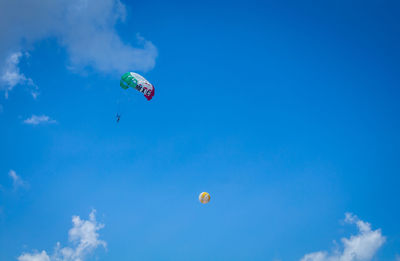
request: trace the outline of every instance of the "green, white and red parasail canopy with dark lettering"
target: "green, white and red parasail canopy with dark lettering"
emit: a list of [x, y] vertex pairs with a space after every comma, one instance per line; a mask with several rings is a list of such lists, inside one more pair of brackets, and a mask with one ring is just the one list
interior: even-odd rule
[[124, 73], [124, 75], [121, 77], [119, 85], [125, 90], [129, 87], [138, 90], [144, 94], [144, 97], [146, 97], [148, 101], [150, 101], [154, 96], [153, 84], [149, 83], [143, 76], [137, 73]]

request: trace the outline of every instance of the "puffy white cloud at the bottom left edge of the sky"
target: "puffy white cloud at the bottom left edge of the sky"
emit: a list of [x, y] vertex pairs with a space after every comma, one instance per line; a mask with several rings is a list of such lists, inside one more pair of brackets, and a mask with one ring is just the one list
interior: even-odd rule
[[98, 230], [104, 227], [99, 224], [93, 210], [89, 220], [82, 220], [79, 216], [72, 217], [72, 228], [69, 230], [69, 242], [72, 247], [61, 247], [58, 242], [52, 255], [46, 251], [40, 253], [24, 253], [18, 257], [18, 261], [83, 261], [89, 257], [99, 246], [106, 247], [105, 241], [99, 239]]

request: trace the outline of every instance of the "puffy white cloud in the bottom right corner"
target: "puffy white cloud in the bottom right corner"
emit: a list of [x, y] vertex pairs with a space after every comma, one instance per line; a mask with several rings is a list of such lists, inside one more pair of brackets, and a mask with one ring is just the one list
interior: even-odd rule
[[385, 237], [380, 229], [372, 230], [371, 224], [346, 213], [345, 222], [356, 224], [358, 234], [350, 238], [342, 238], [342, 248], [336, 248], [332, 253], [319, 251], [306, 254], [301, 261], [370, 261], [379, 248], [385, 243]]

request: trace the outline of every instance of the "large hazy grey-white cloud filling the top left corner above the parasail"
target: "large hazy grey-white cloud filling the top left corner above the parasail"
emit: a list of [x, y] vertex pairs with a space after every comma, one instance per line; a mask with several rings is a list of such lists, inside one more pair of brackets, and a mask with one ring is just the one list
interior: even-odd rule
[[[8, 92], [16, 84], [29, 83], [21, 81], [21, 52], [48, 38], [57, 39], [67, 50], [68, 67], [77, 71], [87, 66], [107, 73], [152, 69], [157, 48], [140, 36], [135, 35], [133, 46], [118, 35], [115, 26], [125, 17], [120, 0], [0, 1], [2, 88]], [[14, 70], [8, 70], [7, 57], [11, 56]]]

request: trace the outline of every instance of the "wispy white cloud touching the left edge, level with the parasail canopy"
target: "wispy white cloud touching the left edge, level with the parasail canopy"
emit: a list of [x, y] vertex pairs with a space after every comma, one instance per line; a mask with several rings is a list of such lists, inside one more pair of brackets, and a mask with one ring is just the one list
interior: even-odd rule
[[[27, 54], [25, 54], [27, 55]], [[18, 67], [21, 58], [24, 56], [21, 52], [11, 53], [5, 61], [2, 75], [0, 78], [0, 87], [4, 90], [5, 97], [8, 98], [8, 92], [16, 85], [28, 85], [31, 87], [31, 94], [34, 99], [38, 96], [38, 87], [31, 78], [26, 77], [20, 72]]]

